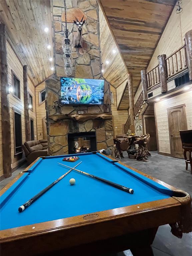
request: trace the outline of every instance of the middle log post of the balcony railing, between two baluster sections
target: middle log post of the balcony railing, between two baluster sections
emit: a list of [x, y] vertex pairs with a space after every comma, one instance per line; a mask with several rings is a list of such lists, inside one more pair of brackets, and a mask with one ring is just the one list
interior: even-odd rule
[[166, 54], [162, 54], [158, 56], [159, 61], [159, 76], [161, 82], [161, 92], [167, 92], [167, 61]]

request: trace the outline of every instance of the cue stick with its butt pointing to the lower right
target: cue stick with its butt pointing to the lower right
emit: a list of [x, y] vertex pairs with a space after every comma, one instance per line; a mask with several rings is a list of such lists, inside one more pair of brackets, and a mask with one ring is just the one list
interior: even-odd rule
[[[61, 163], [58, 163], [58, 164], [61, 164]], [[65, 166], [65, 167], [68, 167], [68, 168], [71, 168], [71, 169], [73, 169], [73, 170], [75, 170], [75, 171], [77, 171], [77, 172], [83, 173], [83, 174], [85, 174], [85, 175], [87, 175], [87, 176], [89, 176], [89, 177], [91, 177], [91, 178], [93, 178], [93, 179], [99, 180], [99, 181], [101, 181], [101, 182], [103, 182], [103, 183], [106, 183], [106, 184], [111, 185], [111, 186], [113, 186], [113, 187], [115, 187], [115, 188], [121, 189], [121, 190], [123, 190], [123, 191], [125, 191], [125, 192], [128, 192], [128, 193], [130, 193], [130, 194], [133, 194], [133, 193], [134, 193], [134, 190], [133, 190], [132, 188], [124, 187], [124, 186], [119, 185], [119, 184], [117, 184], [117, 183], [114, 183], [114, 182], [112, 182], [112, 181], [105, 180], [105, 179], [102, 179], [102, 178], [97, 177], [97, 176], [95, 176], [95, 175], [89, 174], [89, 173], [87, 173], [87, 172], [83, 172], [83, 171], [77, 170], [77, 169], [75, 169], [75, 168], [69, 167], [69, 166], [67, 166], [67, 165], [65, 165], [65, 164], [61, 164], [61, 165]]]

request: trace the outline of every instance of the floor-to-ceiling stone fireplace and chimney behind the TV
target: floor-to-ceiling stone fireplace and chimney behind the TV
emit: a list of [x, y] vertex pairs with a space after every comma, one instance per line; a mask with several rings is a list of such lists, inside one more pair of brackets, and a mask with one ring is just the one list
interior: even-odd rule
[[[53, 1], [55, 74], [45, 82], [49, 155], [69, 154], [71, 152], [69, 151], [70, 134], [86, 132], [95, 133], [96, 150], [108, 149], [113, 146], [111, 110], [109, 113], [104, 113], [104, 105], [62, 105], [61, 113], [57, 115], [53, 109], [53, 101], [61, 99], [60, 77], [66, 76], [62, 59], [62, 39], [65, 28], [63, 6], [63, 0]], [[86, 20], [83, 26], [83, 48], [73, 50], [74, 63], [71, 77], [103, 79], [99, 46], [98, 2], [96, 0], [68, 0], [66, 6], [67, 26], [71, 40], [76, 33], [76, 25], [73, 24], [74, 18], [81, 19], [84, 15]], [[109, 106], [111, 104], [110, 84], [107, 81], [104, 83], [104, 103]]]

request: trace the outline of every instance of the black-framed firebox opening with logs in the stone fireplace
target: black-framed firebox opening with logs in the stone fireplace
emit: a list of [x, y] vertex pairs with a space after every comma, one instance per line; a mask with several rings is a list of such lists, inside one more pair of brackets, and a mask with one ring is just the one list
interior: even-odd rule
[[69, 154], [97, 150], [95, 132], [77, 132], [68, 134]]

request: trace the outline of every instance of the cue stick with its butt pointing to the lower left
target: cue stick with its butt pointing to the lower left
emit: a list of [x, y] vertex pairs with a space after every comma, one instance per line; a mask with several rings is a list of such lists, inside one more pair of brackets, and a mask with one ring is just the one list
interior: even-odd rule
[[[82, 161], [80, 163], [78, 163], [75, 167], [77, 167], [79, 164], [81, 164]], [[41, 190], [38, 194], [36, 194], [34, 197], [32, 197], [29, 201], [27, 201], [25, 204], [21, 205], [18, 208], [19, 212], [24, 211], [27, 207], [29, 207], [33, 202], [35, 202], [40, 196], [42, 196], [45, 192], [47, 192], [51, 187], [53, 187], [57, 182], [59, 182], [61, 179], [63, 179], [68, 173], [70, 173], [73, 170], [73, 168], [70, 168], [70, 170], [68, 172], [66, 172], [65, 174], [63, 174], [61, 177], [59, 177], [57, 180], [55, 180], [53, 183], [51, 183], [49, 186], [47, 186], [46, 188], [44, 188], [43, 190]]]

